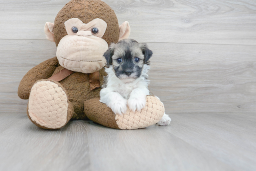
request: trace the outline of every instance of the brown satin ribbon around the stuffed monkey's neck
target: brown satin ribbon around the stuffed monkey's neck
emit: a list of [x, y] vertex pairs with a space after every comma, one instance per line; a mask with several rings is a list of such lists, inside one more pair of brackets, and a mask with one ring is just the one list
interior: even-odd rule
[[[54, 80], [54, 81], [61, 81], [63, 79], [66, 79], [69, 75], [71, 75], [72, 73], [74, 73], [74, 71], [70, 71], [66, 68], [64, 68], [63, 70], [61, 70], [60, 72], [54, 74], [53, 76], [51, 76], [48, 79]], [[101, 86], [100, 83], [100, 72], [94, 72], [94, 73], [89, 73], [89, 82], [90, 82], [90, 90], [93, 91], [95, 88], [98, 88]]]

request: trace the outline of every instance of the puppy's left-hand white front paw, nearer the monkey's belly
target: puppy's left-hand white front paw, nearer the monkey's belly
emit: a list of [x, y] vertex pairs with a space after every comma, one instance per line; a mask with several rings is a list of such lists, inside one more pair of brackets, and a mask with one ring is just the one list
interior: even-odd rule
[[115, 114], [122, 115], [127, 111], [127, 99], [124, 99], [118, 92], [104, 88], [100, 92], [100, 102], [105, 103]]

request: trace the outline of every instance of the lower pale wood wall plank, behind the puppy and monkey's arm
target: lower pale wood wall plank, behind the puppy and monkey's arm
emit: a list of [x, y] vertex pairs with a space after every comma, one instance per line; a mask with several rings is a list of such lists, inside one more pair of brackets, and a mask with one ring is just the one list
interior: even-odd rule
[[[14, 43], [15, 42], [15, 43]], [[40, 62], [55, 56], [47, 40], [0, 40], [0, 104], [23, 106], [20, 80]], [[255, 112], [255, 46], [148, 43], [151, 91], [167, 113]], [[29, 48], [26, 48], [29, 47]]]

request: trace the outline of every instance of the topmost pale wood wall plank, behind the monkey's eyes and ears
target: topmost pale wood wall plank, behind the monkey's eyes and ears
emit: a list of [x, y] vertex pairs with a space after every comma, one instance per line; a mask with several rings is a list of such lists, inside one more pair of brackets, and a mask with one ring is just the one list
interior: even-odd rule
[[[0, 1], [0, 39], [46, 39], [47, 21], [69, 0]], [[256, 45], [253, 0], [104, 0], [141, 42]]]

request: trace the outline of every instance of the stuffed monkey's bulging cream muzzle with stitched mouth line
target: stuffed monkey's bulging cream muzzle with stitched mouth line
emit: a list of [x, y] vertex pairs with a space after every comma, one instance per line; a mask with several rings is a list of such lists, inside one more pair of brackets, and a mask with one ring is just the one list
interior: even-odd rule
[[107, 50], [108, 43], [104, 39], [67, 35], [61, 39], [56, 56], [60, 65], [68, 70], [93, 73], [105, 66], [107, 61], [103, 54]]

